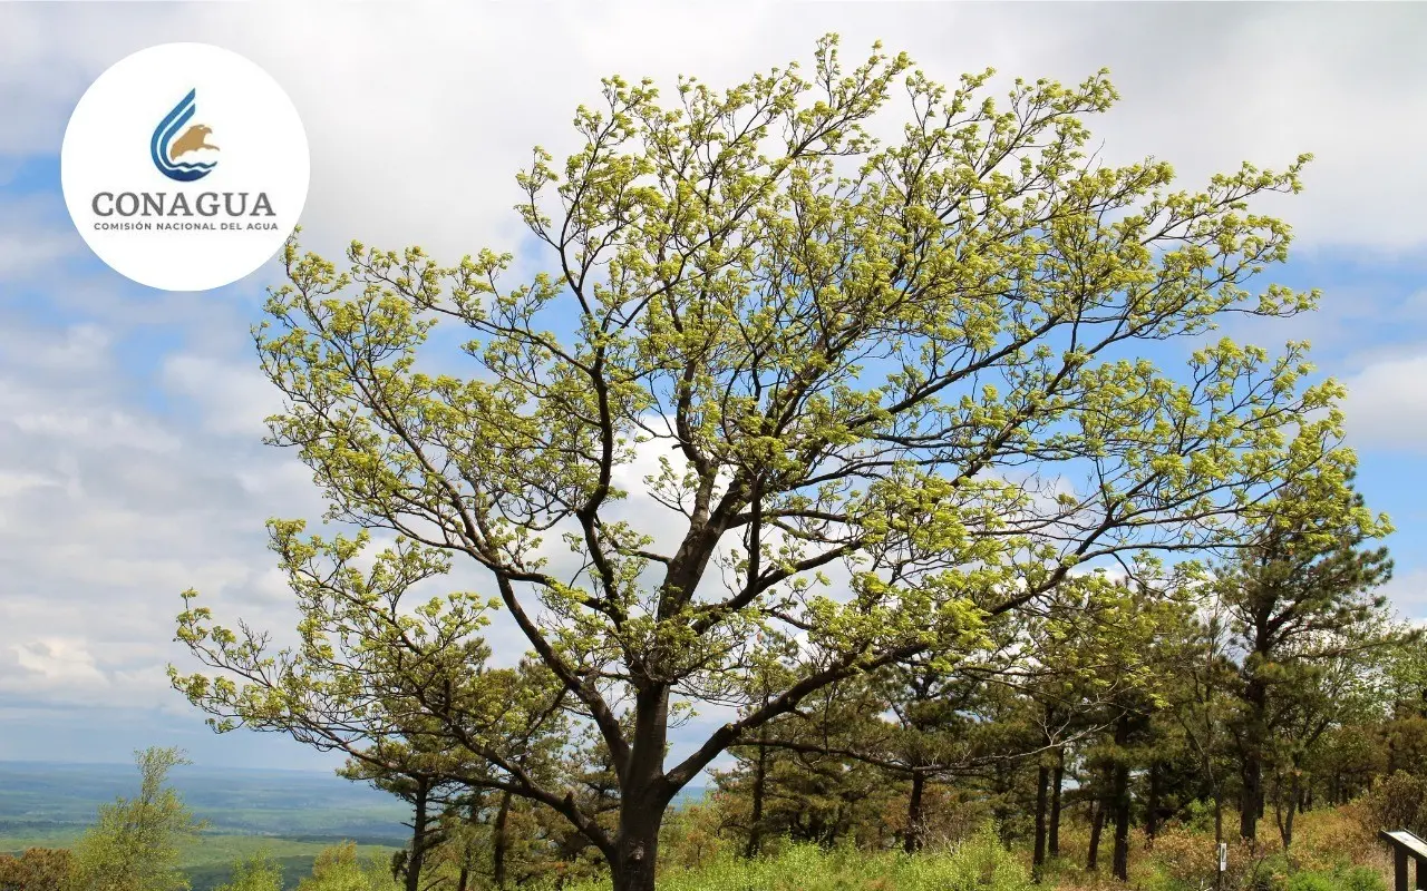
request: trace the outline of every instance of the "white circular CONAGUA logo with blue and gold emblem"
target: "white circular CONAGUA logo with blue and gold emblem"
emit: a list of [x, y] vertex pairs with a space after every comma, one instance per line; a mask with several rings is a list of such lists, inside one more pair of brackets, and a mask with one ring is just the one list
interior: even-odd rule
[[116, 63], [64, 131], [60, 182], [86, 244], [150, 288], [207, 291], [254, 272], [307, 201], [307, 133], [263, 68], [201, 43]]

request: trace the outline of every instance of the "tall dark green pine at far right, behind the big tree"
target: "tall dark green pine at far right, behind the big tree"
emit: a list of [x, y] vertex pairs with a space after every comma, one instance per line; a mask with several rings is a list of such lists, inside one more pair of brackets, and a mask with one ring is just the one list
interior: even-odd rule
[[1304, 753], [1347, 713], [1344, 684], [1364, 654], [1397, 642], [1380, 586], [1391, 577], [1391, 526], [1351, 488], [1351, 472], [1324, 469], [1263, 505], [1251, 546], [1224, 567], [1219, 596], [1232, 620], [1239, 677], [1229, 727], [1240, 760], [1240, 835], [1253, 841], [1264, 813], [1264, 773], [1291, 776], [1283, 843], [1303, 791]]

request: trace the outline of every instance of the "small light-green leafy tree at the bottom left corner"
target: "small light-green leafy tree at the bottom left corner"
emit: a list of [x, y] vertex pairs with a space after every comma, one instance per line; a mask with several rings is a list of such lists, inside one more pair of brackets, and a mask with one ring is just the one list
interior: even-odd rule
[[177, 748], [136, 753], [140, 791], [98, 808], [98, 820], [73, 847], [74, 891], [186, 891], [178, 868], [184, 848], [198, 838], [195, 820], [166, 786], [168, 771], [187, 764]]

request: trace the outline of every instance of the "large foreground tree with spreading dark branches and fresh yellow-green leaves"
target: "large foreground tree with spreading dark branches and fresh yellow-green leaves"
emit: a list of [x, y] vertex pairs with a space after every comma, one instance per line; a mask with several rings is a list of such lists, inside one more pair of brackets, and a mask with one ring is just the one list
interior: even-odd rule
[[[354, 244], [341, 272], [283, 254], [257, 332], [285, 396], [271, 442], [331, 519], [485, 572], [598, 733], [618, 817], [508, 751], [487, 753], [494, 781], [568, 818], [622, 891], [654, 887], [675, 794], [812, 693], [979, 646], [1076, 565], [1226, 543], [1246, 505], [1334, 460], [1339, 388], [1303, 386], [1301, 346], [1204, 342], [1173, 375], [1137, 352], [1313, 305], [1243, 288], [1289, 244], [1247, 202], [1297, 191], [1306, 158], [1173, 191], [1164, 163], [1086, 154], [1103, 73], [1016, 81], [1005, 105], [989, 77], [845, 67], [826, 38], [806, 74], [681, 80], [668, 104], [609, 78], [582, 147], [518, 177], [531, 278], [491, 251]], [[909, 118], [878, 141], [899, 81]], [[464, 331], [464, 371], [437, 325]], [[781, 690], [745, 683], [789, 646]], [[240, 716], [304, 706], [186, 689]], [[671, 761], [679, 703], [738, 717]]]

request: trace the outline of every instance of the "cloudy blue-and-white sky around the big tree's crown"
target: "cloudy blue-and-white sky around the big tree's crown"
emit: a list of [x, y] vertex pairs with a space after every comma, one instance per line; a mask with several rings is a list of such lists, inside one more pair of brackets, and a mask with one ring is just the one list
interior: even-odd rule
[[[705, 11], [706, 10], [706, 11]], [[313, 151], [308, 247], [514, 249], [514, 174], [568, 147], [606, 74], [731, 84], [809, 60], [838, 31], [953, 81], [993, 66], [1123, 98], [1093, 123], [1112, 161], [1154, 155], [1186, 185], [1249, 160], [1317, 161], [1276, 202], [1299, 235], [1274, 278], [1324, 292], [1311, 318], [1232, 329], [1307, 338], [1350, 388], [1368, 503], [1398, 532], [1393, 596], [1427, 617], [1427, 7], [1418, 4], [0, 4], [0, 758], [116, 761], [180, 744], [211, 766], [320, 767], [294, 743], [215, 737], [164, 664], [178, 592], [291, 627], [268, 516], [317, 519], [305, 470], [260, 443], [275, 408], [248, 326], [267, 267], [205, 294], [130, 284], [64, 211], [59, 148], [94, 77], [170, 41], [267, 68]], [[497, 640], [497, 646], [501, 642]]]

